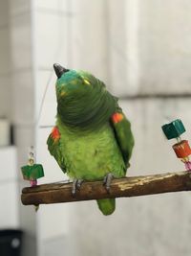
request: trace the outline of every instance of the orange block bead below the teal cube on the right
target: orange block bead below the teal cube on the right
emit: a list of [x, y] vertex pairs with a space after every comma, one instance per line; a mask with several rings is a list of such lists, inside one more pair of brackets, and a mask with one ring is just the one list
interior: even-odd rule
[[177, 154], [178, 158], [185, 158], [191, 154], [191, 149], [187, 140], [182, 140], [173, 145], [173, 150]]

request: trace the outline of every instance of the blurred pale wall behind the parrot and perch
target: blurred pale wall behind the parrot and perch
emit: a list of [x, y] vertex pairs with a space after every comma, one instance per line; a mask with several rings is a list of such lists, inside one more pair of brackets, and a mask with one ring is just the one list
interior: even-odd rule
[[23, 255], [190, 255], [190, 193], [120, 198], [111, 217], [95, 201], [40, 206], [35, 214], [18, 195], [28, 185], [19, 167], [31, 145], [45, 168], [41, 183], [66, 178], [46, 146], [54, 62], [92, 72], [119, 97], [136, 138], [128, 175], [183, 170], [160, 126], [180, 118], [190, 138], [190, 12], [188, 0], [0, 1], [0, 115], [13, 122], [16, 144], [0, 150], [0, 228], [25, 231]]

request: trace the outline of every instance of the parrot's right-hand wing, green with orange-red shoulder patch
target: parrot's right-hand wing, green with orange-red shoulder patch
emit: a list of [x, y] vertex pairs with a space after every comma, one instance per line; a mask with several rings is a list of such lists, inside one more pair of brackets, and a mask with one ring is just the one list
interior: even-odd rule
[[129, 160], [134, 148], [134, 136], [131, 130], [131, 123], [128, 121], [121, 108], [111, 117], [111, 123], [115, 130], [117, 144], [122, 153], [126, 167], [129, 167]]

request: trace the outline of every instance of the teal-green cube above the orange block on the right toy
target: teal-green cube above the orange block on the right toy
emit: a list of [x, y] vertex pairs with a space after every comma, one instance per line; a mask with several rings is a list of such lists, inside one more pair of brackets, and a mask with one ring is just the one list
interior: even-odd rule
[[180, 135], [185, 131], [180, 119], [177, 119], [169, 124], [165, 124], [161, 128], [168, 140], [180, 137]]

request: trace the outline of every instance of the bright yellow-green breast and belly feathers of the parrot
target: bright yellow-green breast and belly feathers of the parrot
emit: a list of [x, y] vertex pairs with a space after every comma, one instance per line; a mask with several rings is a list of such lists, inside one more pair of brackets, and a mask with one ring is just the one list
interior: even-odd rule
[[59, 149], [62, 149], [64, 166], [70, 177], [95, 180], [102, 179], [108, 173], [116, 177], [124, 175], [125, 164], [109, 122], [89, 132], [80, 129], [71, 131], [59, 117], [56, 125], [61, 133]]

